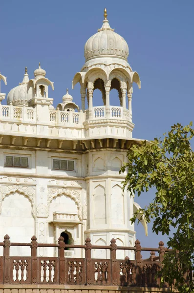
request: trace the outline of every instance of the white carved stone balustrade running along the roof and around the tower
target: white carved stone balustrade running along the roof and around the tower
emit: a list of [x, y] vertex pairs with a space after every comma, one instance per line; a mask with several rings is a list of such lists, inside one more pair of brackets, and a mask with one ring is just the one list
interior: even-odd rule
[[109, 112], [106, 106], [93, 107], [89, 115], [88, 110], [60, 111], [49, 109], [48, 105], [0, 105], [0, 135], [24, 133], [34, 137], [43, 134], [47, 138], [83, 139], [106, 134], [128, 139], [133, 127], [129, 110], [120, 106], [110, 106]]

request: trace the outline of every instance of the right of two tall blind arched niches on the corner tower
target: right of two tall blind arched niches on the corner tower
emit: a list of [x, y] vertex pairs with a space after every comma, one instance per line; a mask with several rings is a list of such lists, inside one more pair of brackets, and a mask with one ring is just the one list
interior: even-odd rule
[[124, 224], [124, 195], [118, 184], [111, 190], [111, 222], [117, 225]]

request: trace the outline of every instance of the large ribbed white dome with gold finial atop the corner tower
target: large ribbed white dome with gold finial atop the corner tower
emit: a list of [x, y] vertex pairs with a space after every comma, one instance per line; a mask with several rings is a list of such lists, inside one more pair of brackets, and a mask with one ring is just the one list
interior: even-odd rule
[[84, 48], [84, 56], [87, 60], [97, 57], [117, 57], [127, 60], [129, 47], [127, 42], [110, 28], [107, 17], [98, 32], [91, 36]]

